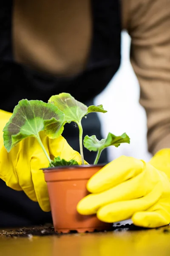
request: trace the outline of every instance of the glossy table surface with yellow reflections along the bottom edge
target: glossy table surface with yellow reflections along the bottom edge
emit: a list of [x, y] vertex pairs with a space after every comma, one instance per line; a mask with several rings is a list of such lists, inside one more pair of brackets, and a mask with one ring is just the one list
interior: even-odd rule
[[0, 256], [170, 256], [170, 226], [53, 236], [0, 236]]

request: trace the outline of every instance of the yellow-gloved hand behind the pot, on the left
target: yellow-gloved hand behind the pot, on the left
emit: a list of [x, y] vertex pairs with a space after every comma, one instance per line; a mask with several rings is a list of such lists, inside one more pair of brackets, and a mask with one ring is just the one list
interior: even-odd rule
[[[34, 137], [22, 140], [9, 153], [6, 151], [2, 130], [10, 117], [11, 113], [0, 110], [0, 178], [7, 186], [23, 190], [32, 201], [38, 201], [43, 211], [50, 211], [47, 184], [40, 170], [48, 167], [49, 162]], [[61, 159], [75, 159], [81, 163], [80, 154], [62, 136], [52, 140], [42, 131], [40, 138], [51, 159], [60, 156]]]

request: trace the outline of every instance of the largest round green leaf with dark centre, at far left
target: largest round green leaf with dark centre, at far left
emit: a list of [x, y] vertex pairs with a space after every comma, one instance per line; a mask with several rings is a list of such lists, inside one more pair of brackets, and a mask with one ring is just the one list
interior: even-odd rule
[[51, 103], [22, 99], [3, 129], [4, 146], [9, 152], [26, 137], [38, 137], [45, 131], [48, 137], [57, 138], [63, 131], [64, 113]]

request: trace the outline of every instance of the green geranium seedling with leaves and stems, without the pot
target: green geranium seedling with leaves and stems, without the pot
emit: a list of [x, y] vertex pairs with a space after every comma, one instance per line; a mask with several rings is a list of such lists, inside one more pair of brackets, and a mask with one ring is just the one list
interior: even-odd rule
[[121, 136], [109, 133], [106, 139], [100, 141], [95, 135], [91, 137], [86, 135], [83, 141], [81, 121], [83, 117], [92, 112], [106, 113], [107, 111], [103, 109], [102, 105], [87, 107], [82, 102], [74, 99], [70, 93], [60, 93], [51, 96], [48, 103], [40, 100], [22, 99], [15, 106], [11, 118], [3, 129], [4, 146], [9, 152], [21, 140], [32, 136], [40, 143], [42, 150], [49, 160], [49, 167], [77, 165], [78, 163], [74, 159], [66, 161], [65, 159], [60, 159], [60, 157], [55, 157], [54, 160], [51, 160], [39, 135], [40, 131], [44, 131], [49, 138], [56, 139], [62, 134], [65, 123], [75, 122], [79, 128], [79, 147], [82, 165], [87, 163], [83, 156], [83, 143], [89, 151], [97, 152], [94, 161], [94, 164], [97, 164], [105, 148], [111, 145], [118, 147], [121, 143], [130, 143], [130, 138], [126, 133]]

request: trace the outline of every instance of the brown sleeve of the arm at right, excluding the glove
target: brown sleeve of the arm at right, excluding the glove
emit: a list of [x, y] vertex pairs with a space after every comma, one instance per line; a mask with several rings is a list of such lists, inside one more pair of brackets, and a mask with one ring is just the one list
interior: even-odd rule
[[122, 0], [130, 60], [147, 113], [148, 149], [170, 148], [170, 0]]

